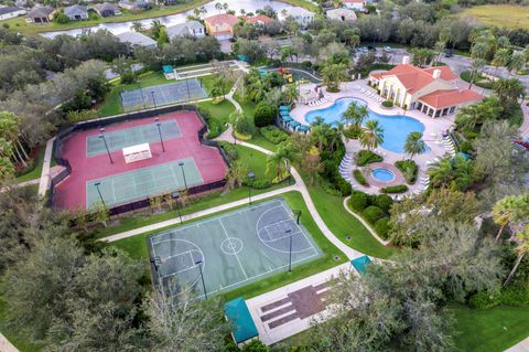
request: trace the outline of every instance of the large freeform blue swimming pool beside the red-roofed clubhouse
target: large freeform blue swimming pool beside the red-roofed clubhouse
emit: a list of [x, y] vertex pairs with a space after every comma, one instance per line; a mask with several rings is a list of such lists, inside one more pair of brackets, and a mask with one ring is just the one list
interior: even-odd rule
[[[327, 124], [339, 122], [342, 114], [353, 102], [356, 102], [356, 104], [360, 106], [366, 105], [366, 103], [356, 98], [339, 98], [330, 107], [306, 113], [305, 121], [312, 124], [316, 117], [320, 116]], [[404, 152], [406, 138], [410, 132], [424, 131], [424, 126], [420, 121], [408, 116], [387, 116], [369, 110], [368, 119], [378, 120], [380, 127], [384, 128], [384, 143], [381, 147], [398, 153]], [[429, 150], [430, 148], [427, 147], [427, 152], [429, 152]]]

